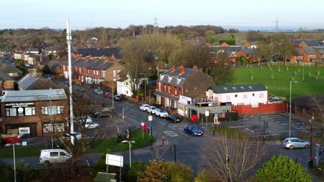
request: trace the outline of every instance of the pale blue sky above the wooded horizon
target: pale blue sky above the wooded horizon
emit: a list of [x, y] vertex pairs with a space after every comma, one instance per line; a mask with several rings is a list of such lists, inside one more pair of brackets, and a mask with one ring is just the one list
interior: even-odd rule
[[320, 0], [2, 0], [0, 29], [127, 28], [213, 25], [255, 30], [324, 28], [324, 1]]

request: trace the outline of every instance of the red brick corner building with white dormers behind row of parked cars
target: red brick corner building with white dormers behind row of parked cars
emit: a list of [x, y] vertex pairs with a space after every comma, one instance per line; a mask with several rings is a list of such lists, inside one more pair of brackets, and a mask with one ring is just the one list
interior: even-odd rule
[[205, 95], [206, 89], [215, 85], [213, 79], [197, 69], [171, 67], [171, 70], [164, 72], [156, 81], [157, 104], [178, 108], [179, 96], [199, 98]]

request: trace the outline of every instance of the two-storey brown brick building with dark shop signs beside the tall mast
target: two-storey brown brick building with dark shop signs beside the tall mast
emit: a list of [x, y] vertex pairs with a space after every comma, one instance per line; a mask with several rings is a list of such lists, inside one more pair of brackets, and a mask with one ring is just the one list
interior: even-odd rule
[[6, 91], [1, 99], [2, 133], [51, 136], [66, 132], [68, 108], [63, 89]]

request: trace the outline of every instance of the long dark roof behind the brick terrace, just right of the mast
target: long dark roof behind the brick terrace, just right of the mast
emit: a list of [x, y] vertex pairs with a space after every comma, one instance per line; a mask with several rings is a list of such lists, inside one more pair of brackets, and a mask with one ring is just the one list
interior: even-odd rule
[[121, 59], [122, 55], [120, 53], [120, 50], [118, 48], [108, 48], [108, 49], [78, 49], [78, 54], [82, 54], [82, 57], [111, 57], [114, 55], [116, 59]]

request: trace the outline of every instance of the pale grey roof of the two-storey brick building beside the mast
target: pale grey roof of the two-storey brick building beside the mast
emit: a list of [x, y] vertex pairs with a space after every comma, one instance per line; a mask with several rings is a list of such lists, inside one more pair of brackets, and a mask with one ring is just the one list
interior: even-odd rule
[[6, 91], [1, 103], [67, 99], [64, 89]]

